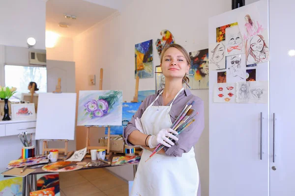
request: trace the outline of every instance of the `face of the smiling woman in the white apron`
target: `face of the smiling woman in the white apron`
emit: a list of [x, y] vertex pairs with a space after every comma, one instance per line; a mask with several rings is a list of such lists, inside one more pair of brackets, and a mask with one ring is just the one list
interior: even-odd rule
[[165, 77], [182, 78], [189, 67], [184, 55], [178, 49], [169, 48], [164, 53], [161, 68]]

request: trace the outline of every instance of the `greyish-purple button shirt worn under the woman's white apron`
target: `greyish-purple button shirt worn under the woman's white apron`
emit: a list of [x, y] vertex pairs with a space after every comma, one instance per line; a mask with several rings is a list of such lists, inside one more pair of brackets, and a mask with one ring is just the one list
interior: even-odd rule
[[[156, 95], [150, 95], [141, 103], [139, 109], [133, 115], [131, 121], [127, 124], [123, 131], [123, 138], [128, 146], [133, 146], [130, 142], [127, 141], [128, 136], [130, 133], [134, 130], [138, 130], [135, 127], [135, 119], [138, 117], [139, 119], [142, 117], [143, 113], [147, 109], [147, 107], [155, 100], [155, 98], [159, 95], [159, 93], [162, 91], [159, 90]], [[174, 146], [172, 147], [164, 147], [166, 155], [168, 156], [177, 156], [181, 157], [183, 152], [188, 152], [195, 144], [198, 142], [204, 126], [205, 126], [205, 120], [204, 120], [204, 101], [194, 96], [189, 89], [185, 89], [182, 91], [175, 101], [172, 104], [171, 110], [169, 112], [171, 122], [174, 123], [174, 121], [177, 119], [177, 116], [181, 112], [182, 108], [187, 102], [195, 101], [192, 109], [195, 109], [195, 112], [191, 115], [193, 117], [196, 113], [198, 113], [194, 119], [195, 122], [193, 122], [191, 125], [189, 125], [183, 132], [181, 132], [179, 135], [177, 135], [177, 138], [179, 139]], [[170, 105], [172, 100], [167, 104]], [[153, 103], [153, 106], [162, 106], [163, 105], [163, 98], [162, 95], [159, 96], [159, 98]], [[167, 127], [170, 128], [170, 127]]]

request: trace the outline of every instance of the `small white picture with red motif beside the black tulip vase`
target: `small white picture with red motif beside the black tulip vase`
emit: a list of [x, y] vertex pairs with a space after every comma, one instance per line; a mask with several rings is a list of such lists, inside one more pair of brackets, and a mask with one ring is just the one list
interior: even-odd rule
[[11, 114], [13, 120], [36, 119], [34, 103], [11, 104]]

